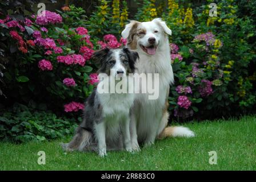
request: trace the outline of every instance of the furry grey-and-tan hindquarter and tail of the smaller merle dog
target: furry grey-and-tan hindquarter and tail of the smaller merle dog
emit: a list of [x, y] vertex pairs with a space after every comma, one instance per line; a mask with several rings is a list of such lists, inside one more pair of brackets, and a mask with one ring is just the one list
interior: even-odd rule
[[65, 151], [85, 151], [93, 143], [93, 134], [84, 129], [78, 129], [77, 133], [69, 143], [61, 143]]

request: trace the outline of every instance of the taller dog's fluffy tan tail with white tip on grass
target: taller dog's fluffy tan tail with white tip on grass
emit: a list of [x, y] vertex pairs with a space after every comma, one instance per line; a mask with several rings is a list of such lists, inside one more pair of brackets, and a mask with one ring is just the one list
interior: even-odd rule
[[158, 138], [166, 138], [166, 137], [195, 137], [193, 131], [191, 131], [187, 127], [183, 126], [172, 126], [166, 127], [163, 129], [162, 133], [159, 134]]

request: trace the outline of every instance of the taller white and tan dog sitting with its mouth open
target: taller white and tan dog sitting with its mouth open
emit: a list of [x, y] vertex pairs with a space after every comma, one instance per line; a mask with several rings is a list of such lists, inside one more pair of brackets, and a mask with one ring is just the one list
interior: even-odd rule
[[157, 138], [194, 137], [193, 131], [186, 127], [166, 127], [169, 88], [174, 82], [168, 35], [171, 30], [160, 18], [151, 22], [132, 20], [122, 31], [127, 46], [139, 54], [137, 72], [159, 73], [157, 100], [149, 100], [149, 93], [136, 96], [130, 126], [133, 150], [139, 150], [138, 143], [153, 144]]

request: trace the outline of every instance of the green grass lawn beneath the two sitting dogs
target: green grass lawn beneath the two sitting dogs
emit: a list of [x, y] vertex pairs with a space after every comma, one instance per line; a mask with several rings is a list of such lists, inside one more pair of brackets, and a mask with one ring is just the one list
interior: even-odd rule
[[[195, 138], [157, 140], [141, 152], [64, 152], [59, 142], [0, 143], [0, 170], [255, 170], [256, 117], [229, 121], [187, 123]], [[39, 165], [38, 151], [45, 151], [46, 164]], [[217, 164], [209, 164], [210, 151]]]

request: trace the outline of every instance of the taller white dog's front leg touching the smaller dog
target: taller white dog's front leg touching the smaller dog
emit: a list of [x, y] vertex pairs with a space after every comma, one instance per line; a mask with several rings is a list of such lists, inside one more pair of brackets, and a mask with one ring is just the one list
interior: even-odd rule
[[140, 151], [137, 136], [137, 121], [134, 113], [130, 114], [130, 133], [131, 133], [131, 147], [133, 151]]

